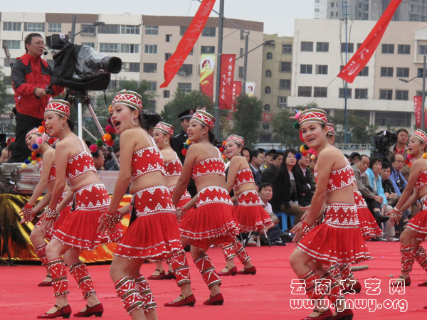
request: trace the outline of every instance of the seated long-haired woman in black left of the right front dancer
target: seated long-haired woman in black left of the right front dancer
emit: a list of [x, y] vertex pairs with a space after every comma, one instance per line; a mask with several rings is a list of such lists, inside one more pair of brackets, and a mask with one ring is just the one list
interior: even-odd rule
[[294, 225], [300, 222], [300, 218], [305, 212], [298, 205], [297, 186], [292, 173], [292, 168], [297, 164], [295, 154], [297, 154], [297, 151], [293, 149], [285, 151], [283, 164], [278, 169], [273, 180], [274, 193], [271, 199], [273, 212], [284, 212], [288, 215], [295, 215]]

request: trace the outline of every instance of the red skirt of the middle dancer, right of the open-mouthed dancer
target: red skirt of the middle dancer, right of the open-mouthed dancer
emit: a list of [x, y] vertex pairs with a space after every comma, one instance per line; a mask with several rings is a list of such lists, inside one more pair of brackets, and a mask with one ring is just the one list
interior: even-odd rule
[[[207, 250], [209, 245], [234, 242], [239, 234], [233, 218], [233, 203], [226, 189], [209, 186], [198, 193], [196, 210], [181, 218], [181, 236], [191, 245]], [[211, 240], [215, 240], [214, 243]]]

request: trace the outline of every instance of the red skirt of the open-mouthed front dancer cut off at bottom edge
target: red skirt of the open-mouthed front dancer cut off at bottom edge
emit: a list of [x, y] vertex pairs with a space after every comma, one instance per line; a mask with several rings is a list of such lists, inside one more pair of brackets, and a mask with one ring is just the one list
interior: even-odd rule
[[176, 210], [166, 186], [138, 191], [133, 206], [137, 218], [117, 245], [114, 255], [167, 260], [184, 253]]

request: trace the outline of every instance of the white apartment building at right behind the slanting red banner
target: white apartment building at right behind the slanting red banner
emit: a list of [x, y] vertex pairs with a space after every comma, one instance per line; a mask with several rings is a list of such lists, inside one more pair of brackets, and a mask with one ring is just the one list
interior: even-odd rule
[[[375, 21], [354, 21], [348, 59]], [[288, 106], [315, 102], [328, 114], [344, 110], [344, 81], [337, 78], [346, 63], [344, 27], [336, 20], [295, 20], [292, 84]], [[341, 39], [341, 41], [340, 41]], [[427, 23], [391, 21], [367, 66], [348, 85], [347, 108], [380, 129], [415, 124], [413, 96], [421, 95]], [[413, 81], [405, 83], [399, 79]]]

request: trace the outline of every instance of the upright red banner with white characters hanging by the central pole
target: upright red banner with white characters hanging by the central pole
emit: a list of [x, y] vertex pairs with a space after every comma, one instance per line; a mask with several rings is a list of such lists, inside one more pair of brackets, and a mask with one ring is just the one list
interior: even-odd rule
[[221, 84], [219, 86], [219, 109], [233, 108], [233, 79], [236, 55], [222, 55]]

